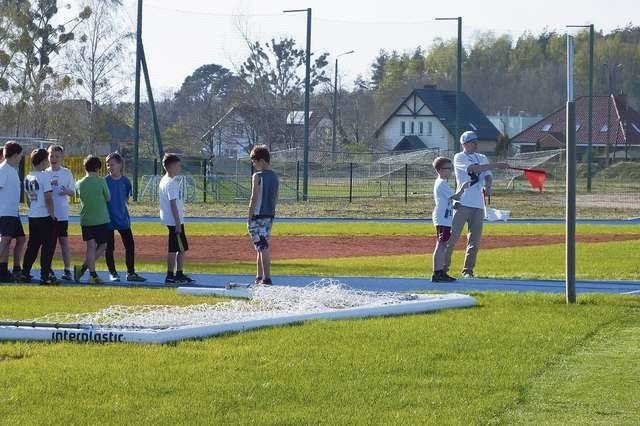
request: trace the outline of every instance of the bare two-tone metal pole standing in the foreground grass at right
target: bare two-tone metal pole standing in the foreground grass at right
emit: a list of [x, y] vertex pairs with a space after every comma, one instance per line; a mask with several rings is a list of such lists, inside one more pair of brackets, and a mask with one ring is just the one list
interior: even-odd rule
[[573, 94], [573, 37], [567, 34], [566, 276], [568, 304], [576, 303], [576, 103]]

